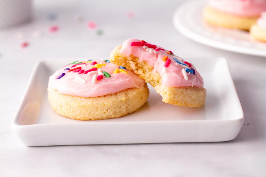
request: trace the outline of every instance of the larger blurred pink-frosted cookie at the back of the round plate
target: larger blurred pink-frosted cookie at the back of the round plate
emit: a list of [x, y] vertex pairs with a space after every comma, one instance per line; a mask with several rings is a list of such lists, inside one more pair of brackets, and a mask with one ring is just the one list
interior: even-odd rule
[[266, 1], [262, 0], [208, 0], [203, 18], [213, 26], [249, 31], [265, 10]]

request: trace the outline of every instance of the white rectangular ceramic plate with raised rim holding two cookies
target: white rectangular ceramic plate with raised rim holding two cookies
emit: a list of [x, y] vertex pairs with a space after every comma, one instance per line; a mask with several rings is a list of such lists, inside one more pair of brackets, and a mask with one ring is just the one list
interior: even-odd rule
[[218, 142], [233, 140], [243, 124], [244, 114], [224, 58], [189, 60], [201, 73], [207, 89], [206, 103], [200, 108], [166, 104], [149, 85], [149, 99], [138, 111], [96, 121], [59, 116], [49, 105], [48, 78], [69, 61], [35, 65], [12, 123], [14, 133], [25, 145]]

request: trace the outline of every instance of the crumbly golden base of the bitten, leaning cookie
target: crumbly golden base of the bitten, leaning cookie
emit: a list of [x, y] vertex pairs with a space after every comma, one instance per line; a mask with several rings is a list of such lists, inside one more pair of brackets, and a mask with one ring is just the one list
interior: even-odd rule
[[150, 83], [155, 91], [163, 97], [163, 102], [185, 107], [200, 107], [205, 103], [206, 89], [198, 87], [163, 87], [161, 76], [154, 73], [153, 67], [138, 57], [120, 53], [121, 45], [110, 54], [110, 62], [136, 73], [140, 78]]

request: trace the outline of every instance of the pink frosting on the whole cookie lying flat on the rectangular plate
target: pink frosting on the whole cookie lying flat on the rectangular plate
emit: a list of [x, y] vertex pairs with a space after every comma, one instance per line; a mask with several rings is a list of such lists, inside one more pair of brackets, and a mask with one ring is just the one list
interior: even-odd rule
[[[101, 68], [102, 71], [106, 71], [111, 75], [110, 78], [103, 76], [103, 79], [96, 80], [95, 83], [92, 82], [93, 75], [78, 73], [78, 72], [69, 72], [65, 71], [65, 68], [72, 69], [74, 64], [69, 64], [58, 71], [56, 71], [52, 76], [49, 78], [49, 87], [51, 89], [57, 90], [61, 94], [67, 94], [72, 96], [81, 96], [81, 97], [97, 97], [103, 96], [108, 94], [114, 94], [119, 91], [129, 89], [129, 88], [142, 88], [145, 81], [139, 78], [136, 74], [124, 70], [127, 74], [119, 72], [113, 74], [118, 66], [112, 63], [106, 63], [104, 61], [97, 60], [99, 63], [105, 63], [106, 66]], [[86, 63], [87, 65], [77, 65], [75, 67], [82, 67], [83, 70], [89, 70], [92, 66], [91, 63]], [[75, 68], [74, 67], [74, 68]], [[97, 69], [98, 71], [98, 69]], [[65, 73], [65, 75], [57, 79], [61, 73]], [[76, 75], [80, 76], [85, 80], [85, 83], [82, 83]], [[97, 74], [97, 76], [99, 76]]]

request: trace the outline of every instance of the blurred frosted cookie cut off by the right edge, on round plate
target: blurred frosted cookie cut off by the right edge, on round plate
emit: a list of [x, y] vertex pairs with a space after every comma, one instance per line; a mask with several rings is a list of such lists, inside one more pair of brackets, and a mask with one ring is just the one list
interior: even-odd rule
[[266, 42], [266, 12], [262, 12], [257, 23], [252, 25], [250, 35], [255, 40]]

